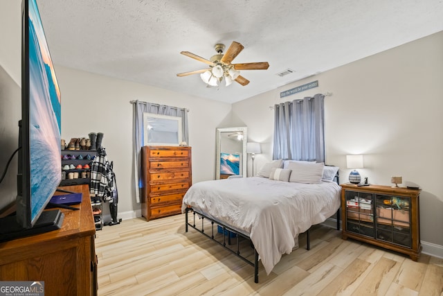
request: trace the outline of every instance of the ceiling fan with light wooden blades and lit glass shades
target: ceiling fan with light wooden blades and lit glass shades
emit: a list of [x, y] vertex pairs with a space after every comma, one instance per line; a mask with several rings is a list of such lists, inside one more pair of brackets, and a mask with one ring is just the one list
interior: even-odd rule
[[244, 86], [249, 83], [249, 80], [241, 76], [239, 70], [266, 70], [269, 67], [268, 62], [231, 64], [235, 57], [244, 49], [244, 46], [239, 44], [239, 42], [233, 41], [226, 53], [223, 53], [224, 48], [224, 44], [215, 44], [217, 54], [213, 55], [209, 60], [201, 58], [199, 55], [195, 55], [189, 51], [181, 51], [182, 55], [204, 62], [209, 65], [209, 68], [178, 73], [177, 76], [183, 77], [200, 73], [201, 80], [208, 86], [218, 86], [222, 80], [226, 80], [226, 86], [230, 85], [233, 80]]

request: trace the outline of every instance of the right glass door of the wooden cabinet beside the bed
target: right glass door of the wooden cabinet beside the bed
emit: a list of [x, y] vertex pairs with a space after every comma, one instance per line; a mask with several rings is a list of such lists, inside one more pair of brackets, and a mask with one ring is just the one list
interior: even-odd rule
[[375, 195], [376, 238], [411, 247], [410, 198]]

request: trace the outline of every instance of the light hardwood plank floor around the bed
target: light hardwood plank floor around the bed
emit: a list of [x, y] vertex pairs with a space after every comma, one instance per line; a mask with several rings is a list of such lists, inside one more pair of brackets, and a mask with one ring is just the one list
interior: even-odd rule
[[311, 230], [311, 250], [282, 256], [270, 275], [217, 243], [185, 232], [185, 217], [124, 220], [97, 232], [98, 295], [443, 295], [443, 259], [418, 262], [341, 238], [325, 226]]

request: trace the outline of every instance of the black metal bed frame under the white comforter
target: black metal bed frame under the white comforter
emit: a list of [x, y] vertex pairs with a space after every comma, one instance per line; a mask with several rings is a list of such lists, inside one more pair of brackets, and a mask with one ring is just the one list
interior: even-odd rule
[[[337, 184], [339, 184], [338, 172], [337, 172], [337, 175], [335, 176], [335, 180], [336, 180]], [[192, 223], [190, 223], [189, 219], [188, 219], [189, 212], [192, 212]], [[195, 215], [196, 214], [201, 219], [201, 229], [198, 228], [195, 223]], [[190, 206], [186, 207], [185, 215], [186, 215], [185, 216], [185, 232], [188, 232], [188, 227], [192, 227], [193, 229], [197, 230], [197, 232], [200, 232], [201, 234], [203, 234], [207, 238], [210, 238], [210, 240], [215, 241], [216, 243], [221, 245], [221, 247], [224, 247], [225, 250], [228, 250], [229, 252], [231, 252], [235, 256], [239, 257], [239, 259], [242, 259], [244, 262], [248, 263], [249, 265], [252, 265], [254, 268], [254, 282], [258, 283], [258, 252], [257, 252], [257, 250], [255, 250], [255, 247], [253, 246], [253, 243], [252, 243], [251, 238], [249, 236], [242, 234], [241, 232], [237, 232], [237, 230], [233, 229], [232, 227], [224, 225], [224, 223], [220, 223], [219, 221], [214, 220], [213, 218], [209, 218], [208, 216], [206, 216], [202, 213], [199, 213], [198, 211], [195, 211], [195, 209], [192, 209], [192, 207], [190, 207]], [[336, 217], [337, 217], [336, 229], [340, 230], [340, 209], [337, 210]], [[205, 220], [210, 221], [210, 226], [211, 226], [210, 227], [210, 234], [206, 234], [206, 232], [205, 232], [205, 228], [204, 228]], [[215, 233], [218, 233], [218, 231], [214, 232], [214, 224], [219, 225], [223, 229], [223, 232], [222, 232], [223, 241], [222, 242], [218, 241], [215, 238]], [[309, 239], [309, 229], [307, 229], [307, 231], [306, 231], [306, 250], [310, 250], [310, 248], [311, 248], [310, 239]], [[237, 248], [236, 248], [237, 250], [233, 250], [232, 248], [228, 247], [231, 245], [230, 233], [235, 234], [237, 237]], [[226, 245], [226, 236], [227, 236], [227, 245]], [[251, 242], [251, 247], [253, 247], [253, 249], [254, 249], [254, 260], [253, 261], [251, 261], [250, 259], [247, 259], [246, 256], [243, 256], [243, 254], [240, 252], [240, 244], [239, 244], [240, 239], [239, 238], [245, 238], [246, 240]]]

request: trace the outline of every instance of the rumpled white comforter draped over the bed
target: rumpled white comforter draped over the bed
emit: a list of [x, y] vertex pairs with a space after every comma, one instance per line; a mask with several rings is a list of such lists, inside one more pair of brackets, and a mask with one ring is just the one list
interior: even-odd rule
[[269, 275], [298, 234], [322, 223], [340, 207], [334, 182], [301, 184], [243, 177], [193, 184], [183, 198], [201, 214], [249, 235]]

